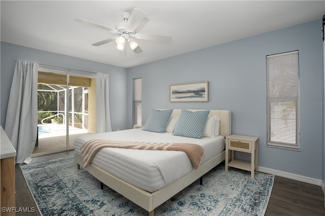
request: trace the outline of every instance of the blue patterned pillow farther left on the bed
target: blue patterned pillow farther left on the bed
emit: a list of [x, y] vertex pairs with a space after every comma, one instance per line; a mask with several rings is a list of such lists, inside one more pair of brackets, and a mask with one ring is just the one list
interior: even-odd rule
[[142, 130], [165, 133], [173, 110], [152, 110]]

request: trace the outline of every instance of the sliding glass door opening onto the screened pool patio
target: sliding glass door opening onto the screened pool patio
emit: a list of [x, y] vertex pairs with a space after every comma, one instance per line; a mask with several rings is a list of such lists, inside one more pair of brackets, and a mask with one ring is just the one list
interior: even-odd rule
[[95, 78], [39, 71], [38, 139], [32, 154], [74, 149], [75, 137], [94, 132], [95, 105], [89, 101], [95, 101]]

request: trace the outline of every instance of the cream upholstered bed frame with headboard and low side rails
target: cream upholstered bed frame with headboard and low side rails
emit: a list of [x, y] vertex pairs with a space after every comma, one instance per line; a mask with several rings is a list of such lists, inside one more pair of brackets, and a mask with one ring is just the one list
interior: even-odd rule
[[[163, 109], [161, 109], [163, 110]], [[200, 111], [200, 110], [189, 110], [189, 111]], [[180, 109], [174, 109], [172, 116], [179, 116], [181, 113]], [[211, 110], [210, 116], [216, 116], [220, 118], [219, 134], [226, 137], [231, 134], [231, 112], [227, 110]], [[144, 208], [149, 212], [149, 215], [153, 215], [153, 211], [156, 207], [166, 202], [168, 199], [173, 197], [175, 194], [201, 178], [205, 173], [210, 171], [213, 167], [218, 165], [225, 159], [225, 151], [202, 164], [198, 169], [191, 171], [176, 182], [168, 185], [167, 187], [155, 191], [153, 193], [142, 190], [134, 185], [131, 185], [122, 179], [110, 174], [109, 172], [93, 165], [90, 163], [85, 169], [96, 177], [101, 183], [104, 183], [117, 193], [121, 194], [125, 198], [136, 203], [140, 207]], [[82, 157], [75, 153], [75, 162], [77, 163], [78, 169], [83, 164]]]

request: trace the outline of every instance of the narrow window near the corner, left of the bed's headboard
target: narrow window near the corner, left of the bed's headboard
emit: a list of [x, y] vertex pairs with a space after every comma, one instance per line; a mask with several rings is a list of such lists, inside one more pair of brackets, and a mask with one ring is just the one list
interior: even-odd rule
[[141, 105], [142, 79], [133, 79], [133, 124], [142, 124], [142, 105]]

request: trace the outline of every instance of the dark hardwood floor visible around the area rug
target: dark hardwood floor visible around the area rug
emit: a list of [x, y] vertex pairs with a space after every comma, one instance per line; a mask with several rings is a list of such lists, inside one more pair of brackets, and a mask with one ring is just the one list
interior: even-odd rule
[[[34, 158], [34, 161], [73, 154], [74, 151], [62, 152]], [[16, 164], [16, 207], [34, 208], [35, 212], [17, 212], [16, 215], [41, 215], [32, 198], [21, 169]], [[265, 213], [266, 216], [320, 216], [325, 215], [324, 195], [320, 186], [275, 176], [274, 185]], [[46, 215], [44, 215], [46, 216]]]

